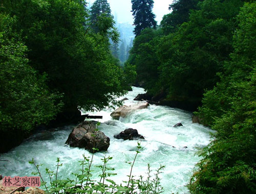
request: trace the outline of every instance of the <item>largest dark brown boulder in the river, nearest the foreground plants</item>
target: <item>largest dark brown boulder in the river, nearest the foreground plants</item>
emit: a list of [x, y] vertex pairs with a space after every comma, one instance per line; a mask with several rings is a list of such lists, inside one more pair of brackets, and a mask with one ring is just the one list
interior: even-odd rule
[[91, 153], [108, 150], [110, 138], [98, 131], [96, 124], [95, 121], [82, 122], [72, 130], [66, 144], [71, 147], [84, 148]]

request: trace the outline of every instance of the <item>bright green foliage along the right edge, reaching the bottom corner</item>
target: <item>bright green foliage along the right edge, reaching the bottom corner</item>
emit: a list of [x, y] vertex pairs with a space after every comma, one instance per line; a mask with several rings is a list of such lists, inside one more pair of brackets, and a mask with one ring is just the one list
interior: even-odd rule
[[200, 109], [217, 133], [201, 152], [191, 193], [256, 193], [256, 3], [245, 3], [237, 22], [231, 60]]

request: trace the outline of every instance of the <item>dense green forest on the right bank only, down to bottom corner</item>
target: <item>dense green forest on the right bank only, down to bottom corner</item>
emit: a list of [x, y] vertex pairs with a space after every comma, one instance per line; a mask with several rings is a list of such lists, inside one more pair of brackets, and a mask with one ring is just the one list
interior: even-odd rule
[[256, 193], [256, 3], [176, 0], [169, 9], [157, 29], [136, 36], [127, 62], [148, 94], [194, 104], [217, 131], [190, 192]]

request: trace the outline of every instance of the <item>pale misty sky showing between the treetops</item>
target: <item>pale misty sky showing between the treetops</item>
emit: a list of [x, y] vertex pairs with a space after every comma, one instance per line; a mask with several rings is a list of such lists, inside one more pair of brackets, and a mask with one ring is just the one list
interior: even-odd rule
[[[89, 0], [88, 2], [95, 2], [95, 0]], [[132, 4], [131, 0], [108, 0], [112, 14], [117, 15], [118, 22], [130, 22], [133, 23], [132, 15]], [[153, 12], [156, 15], [156, 20], [158, 24], [162, 20], [163, 15], [170, 13], [168, 10], [169, 4], [172, 3], [172, 0], [155, 0], [154, 1]]]

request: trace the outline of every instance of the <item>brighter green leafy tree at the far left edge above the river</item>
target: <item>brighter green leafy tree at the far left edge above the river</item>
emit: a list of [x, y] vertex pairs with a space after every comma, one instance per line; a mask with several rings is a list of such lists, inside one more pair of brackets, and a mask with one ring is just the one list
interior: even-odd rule
[[13, 17], [0, 14], [0, 153], [49, 123], [61, 106], [61, 95], [49, 91], [46, 75], [29, 65], [28, 48], [15, 24]]

